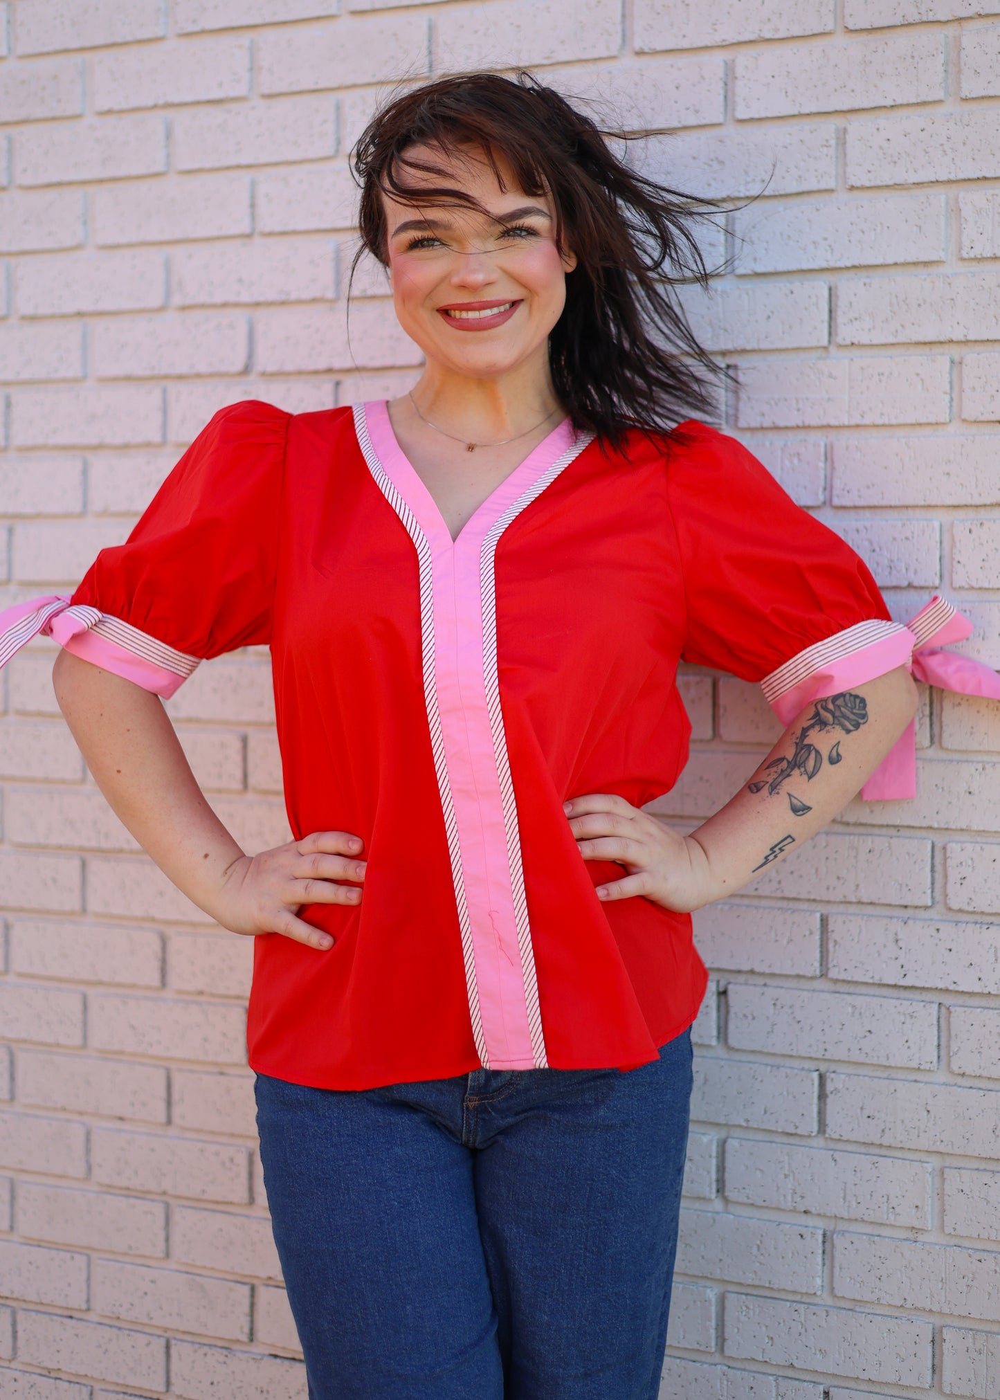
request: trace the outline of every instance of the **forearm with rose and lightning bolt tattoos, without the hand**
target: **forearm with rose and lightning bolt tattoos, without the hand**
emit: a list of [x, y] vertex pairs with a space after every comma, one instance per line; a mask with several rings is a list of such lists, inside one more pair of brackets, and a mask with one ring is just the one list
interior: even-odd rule
[[713, 890], [702, 903], [735, 893], [826, 826], [915, 710], [916, 686], [905, 666], [808, 704], [739, 792], [692, 832]]

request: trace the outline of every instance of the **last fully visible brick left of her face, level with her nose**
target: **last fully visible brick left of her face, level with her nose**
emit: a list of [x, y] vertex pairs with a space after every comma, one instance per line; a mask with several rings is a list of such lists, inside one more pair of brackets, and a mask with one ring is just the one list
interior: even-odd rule
[[172, 259], [174, 302], [332, 301], [336, 255], [331, 244], [283, 238], [268, 244], [183, 248]]

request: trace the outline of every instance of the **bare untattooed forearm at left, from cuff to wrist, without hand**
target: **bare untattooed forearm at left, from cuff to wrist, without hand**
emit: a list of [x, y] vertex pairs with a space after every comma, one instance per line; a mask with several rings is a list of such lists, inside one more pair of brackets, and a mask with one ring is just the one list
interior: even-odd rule
[[109, 806], [160, 869], [217, 917], [242, 850], [209, 806], [158, 696], [63, 651], [59, 707]]

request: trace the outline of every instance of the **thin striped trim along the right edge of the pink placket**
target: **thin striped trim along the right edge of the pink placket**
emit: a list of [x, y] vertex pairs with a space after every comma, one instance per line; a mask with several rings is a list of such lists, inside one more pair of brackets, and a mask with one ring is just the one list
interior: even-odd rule
[[517, 799], [514, 795], [514, 780], [510, 771], [510, 757], [507, 755], [507, 736], [503, 728], [503, 711], [500, 707], [500, 676], [497, 672], [497, 610], [496, 610], [496, 549], [500, 536], [507, 526], [541, 496], [541, 493], [555, 482], [574, 458], [592, 442], [594, 434], [581, 434], [573, 447], [562, 456], [556, 458], [545, 472], [504, 514], [496, 521], [486, 535], [479, 554], [479, 585], [483, 610], [483, 680], [486, 685], [486, 704], [490, 715], [490, 731], [493, 734], [493, 752], [496, 756], [497, 776], [500, 778], [500, 795], [503, 799], [504, 829], [507, 833], [507, 855], [510, 860], [511, 892], [514, 896], [514, 918], [517, 923], [517, 944], [521, 952], [521, 972], [524, 976], [524, 997], [528, 1011], [528, 1030], [531, 1035], [531, 1049], [535, 1056], [535, 1068], [548, 1068], [549, 1060], [545, 1050], [545, 1036], [542, 1033], [542, 1011], [538, 1001], [538, 977], [535, 973], [535, 953], [531, 945], [531, 925], [528, 923], [528, 899], [524, 888], [524, 865], [521, 862], [521, 837], [517, 822]]

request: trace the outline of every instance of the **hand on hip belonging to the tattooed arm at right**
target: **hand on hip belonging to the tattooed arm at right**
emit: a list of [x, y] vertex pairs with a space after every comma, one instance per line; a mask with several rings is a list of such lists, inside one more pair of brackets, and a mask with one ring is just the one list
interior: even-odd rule
[[627, 875], [597, 886], [597, 897], [633, 899], [688, 914], [718, 897], [709, 858], [692, 836], [678, 836], [622, 797], [588, 792], [563, 804], [585, 861], [618, 861]]

